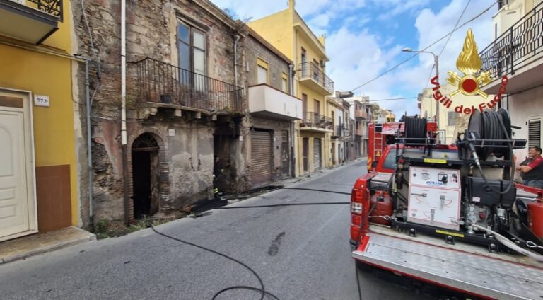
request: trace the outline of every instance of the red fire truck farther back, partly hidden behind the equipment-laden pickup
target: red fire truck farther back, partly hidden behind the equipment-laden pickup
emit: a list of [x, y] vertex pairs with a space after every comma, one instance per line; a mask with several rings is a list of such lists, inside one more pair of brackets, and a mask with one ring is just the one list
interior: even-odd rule
[[[436, 122], [427, 122], [428, 132], [436, 132]], [[373, 171], [375, 163], [383, 156], [383, 152], [395, 143], [397, 137], [403, 137], [404, 122], [370, 123], [368, 125], [368, 172]]]

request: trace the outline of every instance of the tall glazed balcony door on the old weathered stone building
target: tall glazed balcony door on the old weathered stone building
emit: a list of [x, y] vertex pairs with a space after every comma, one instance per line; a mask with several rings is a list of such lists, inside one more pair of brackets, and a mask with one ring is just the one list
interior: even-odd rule
[[204, 92], [206, 82], [206, 35], [185, 23], [177, 24], [179, 82], [194, 91]]

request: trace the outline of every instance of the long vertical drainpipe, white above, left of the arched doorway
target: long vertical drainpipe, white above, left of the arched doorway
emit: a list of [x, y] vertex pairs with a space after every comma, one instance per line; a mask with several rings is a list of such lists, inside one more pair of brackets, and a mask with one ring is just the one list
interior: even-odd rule
[[121, 0], [121, 145], [124, 194], [124, 223], [128, 225], [128, 154], [127, 154], [127, 1]]

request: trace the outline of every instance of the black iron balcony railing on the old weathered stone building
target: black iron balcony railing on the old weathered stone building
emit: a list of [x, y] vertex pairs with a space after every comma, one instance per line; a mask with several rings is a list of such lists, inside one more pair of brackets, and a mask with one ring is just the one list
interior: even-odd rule
[[145, 58], [136, 62], [139, 101], [169, 103], [218, 113], [243, 111], [243, 88]]

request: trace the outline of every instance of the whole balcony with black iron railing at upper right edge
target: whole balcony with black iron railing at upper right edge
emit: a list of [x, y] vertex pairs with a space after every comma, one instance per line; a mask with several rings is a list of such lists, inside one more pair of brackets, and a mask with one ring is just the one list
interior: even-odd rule
[[481, 71], [494, 81], [483, 89], [497, 93], [501, 77], [508, 76], [508, 91], [518, 91], [543, 80], [543, 2], [514, 23], [479, 53]]

